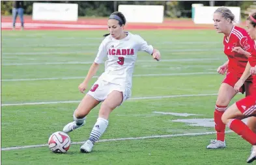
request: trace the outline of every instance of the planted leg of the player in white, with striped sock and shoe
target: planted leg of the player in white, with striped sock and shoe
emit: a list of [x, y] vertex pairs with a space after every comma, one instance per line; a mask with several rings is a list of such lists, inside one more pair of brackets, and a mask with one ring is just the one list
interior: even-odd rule
[[96, 142], [100, 136], [106, 131], [108, 125], [109, 114], [123, 101], [123, 92], [113, 90], [106, 99], [103, 101], [100, 112], [98, 114], [98, 119], [92, 128], [89, 140], [81, 146], [80, 151], [82, 153], [89, 153], [92, 150], [94, 142]]

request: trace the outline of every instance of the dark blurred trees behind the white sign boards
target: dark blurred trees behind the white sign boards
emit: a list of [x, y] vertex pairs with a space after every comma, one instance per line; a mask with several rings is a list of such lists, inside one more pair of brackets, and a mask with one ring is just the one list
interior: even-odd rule
[[[1, 15], [12, 14], [13, 1], [1, 1]], [[210, 6], [210, 1], [24, 1], [24, 14], [31, 15], [33, 3], [78, 3], [79, 16], [109, 16], [118, 5], [164, 5], [165, 17], [191, 18], [192, 4]], [[246, 10], [253, 1], [214, 1], [214, 6], [240, 6]]]

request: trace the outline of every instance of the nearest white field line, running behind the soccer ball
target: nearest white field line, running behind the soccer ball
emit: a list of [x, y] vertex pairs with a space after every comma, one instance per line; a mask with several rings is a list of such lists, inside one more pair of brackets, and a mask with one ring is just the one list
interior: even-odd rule
[[[232, 133], [233, 131], [225, 131], [225, 133]], [[132, 137], [132, 138], [112, 138], [112, 139], [104, 139], [98, 140], [98, 142], [113, 142], [113, 141], [122, 141], [122, 140], [141, 140], [141, 139], [150, 139], [150, 138], [171, 138], [171, 137], [178, 137], [178, 136], [199, 136], [199, 135], [206, 135], [206, 134], [215, 134], [216, 132], [205, 132], [205, 133], [185, 133], [185, 134], [166, 134], [166, 135], [155, 135], [155, 136], [142, 136], [142, 137]], [[97, 142], [97, 143], [98, 143]], [[84, 144], [85, 142], [72, 142], [73, 144]], [[25, 149], [25, 148], [33, 148], [33, 147], [46, 147], [48, 144], [39, 144], [39, 145], [32, 145], [32, 146], [19, 146], [19, 147], [5, 147], [1, 148], [1, 151], [10, 151], [14, 149]]]

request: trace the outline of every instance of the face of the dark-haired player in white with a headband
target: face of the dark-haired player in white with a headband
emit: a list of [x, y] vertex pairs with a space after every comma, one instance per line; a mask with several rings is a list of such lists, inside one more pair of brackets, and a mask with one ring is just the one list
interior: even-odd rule
[[119, 39], [123, 33], [124, 27], [119, 25], [119, 21], [116, 19], [109, 19], [107, 21], [108, 31], [113, 38]]

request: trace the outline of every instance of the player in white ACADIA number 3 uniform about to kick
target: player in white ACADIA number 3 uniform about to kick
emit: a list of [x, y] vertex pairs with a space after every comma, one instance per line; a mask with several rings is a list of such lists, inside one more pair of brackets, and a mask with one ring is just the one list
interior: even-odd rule
[[89, 140], [81, 146], [80, 151], [89, 153], [94, 142], [104, 133], [108, 125], [109, 114], [131, 95], [132, 73], [138, 51], [145, 51], [156, 60], [160, 60], [160, 52], [148, 45], [141, 36], [124, 32], [126, 19], [121, 12], [113, 12], [107, 21], [109, 34], [100, 44], [98, 54], [87, 73], [85, 80], [79, 84], [84, 93], [88, 82], [95, 75], [99, 64], [105, 62], [105, 71], [94, 83], [91, 90], [83, 97], [74, 111], [74, 121], [64, 126], [63, 132], [70, 133], [85, 125], [85, 116], [100, 102], [98, 120], [92, 128]]

